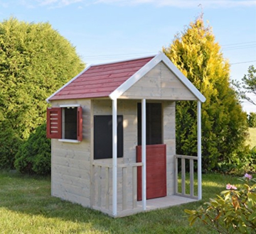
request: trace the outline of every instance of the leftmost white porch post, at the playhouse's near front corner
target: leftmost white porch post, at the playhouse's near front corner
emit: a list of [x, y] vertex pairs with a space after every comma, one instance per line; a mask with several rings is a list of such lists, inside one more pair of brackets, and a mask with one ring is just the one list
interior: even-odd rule
[[117, 216], [117, 99], [112, 100], [112, 214]]

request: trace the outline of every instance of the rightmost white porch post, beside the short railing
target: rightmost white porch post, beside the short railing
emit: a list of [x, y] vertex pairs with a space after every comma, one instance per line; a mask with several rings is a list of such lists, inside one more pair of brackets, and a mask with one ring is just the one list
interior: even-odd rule
[[202, 199], [202, 155], [201, 155], [201, 101], [197, 103], [198, 132], [198, 200]]

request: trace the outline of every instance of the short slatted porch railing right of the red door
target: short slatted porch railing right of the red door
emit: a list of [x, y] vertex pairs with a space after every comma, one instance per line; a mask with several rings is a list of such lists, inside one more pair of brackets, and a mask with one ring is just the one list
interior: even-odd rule
[[[181, 193], [178, 192], [178, 159], [181, 159]], [[189, 160], [189, 194], [186, 194], [186, 160]], [[198, 160], [195, 156], [174, 155], [175, 163], [175, 194], [185, 196], [191, 199], [198, 199], [194, 195], [194, 160]]]

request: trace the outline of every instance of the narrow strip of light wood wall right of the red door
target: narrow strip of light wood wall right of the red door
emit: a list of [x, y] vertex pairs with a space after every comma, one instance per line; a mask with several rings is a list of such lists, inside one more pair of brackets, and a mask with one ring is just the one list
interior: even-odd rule
[[167, 196], [170, 196], [174, 194], [175, 101], [163, 101], [163, 133], [166, 144]]

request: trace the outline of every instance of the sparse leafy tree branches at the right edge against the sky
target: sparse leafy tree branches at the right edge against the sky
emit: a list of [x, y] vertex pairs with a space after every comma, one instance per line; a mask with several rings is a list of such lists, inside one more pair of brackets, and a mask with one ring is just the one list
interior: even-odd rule
[[256, 99], [248, 96], [252, 94], [256, 98], [256, 69], [251, 65], [248, 68], [248, 74], [242, 78], [242, 83], [233, 81], [233, 84], [238, 89], [238, 95], [241, 99], [249, 101], [251, 104], [256, 105]]

